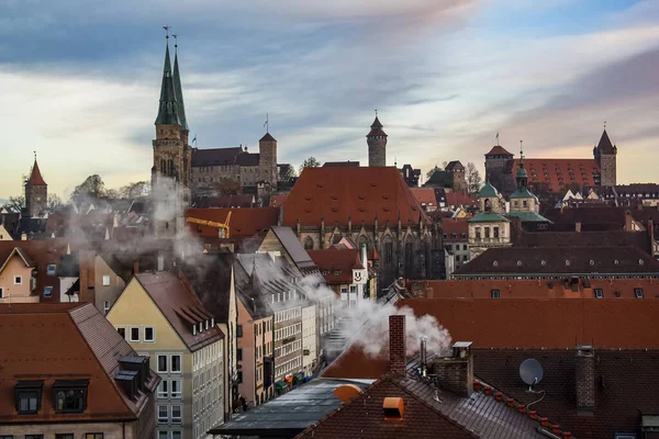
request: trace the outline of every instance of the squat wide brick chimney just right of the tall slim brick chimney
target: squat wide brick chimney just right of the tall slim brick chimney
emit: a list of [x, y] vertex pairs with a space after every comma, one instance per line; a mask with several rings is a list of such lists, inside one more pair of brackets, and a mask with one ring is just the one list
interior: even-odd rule
[[471, 341], [457, 341], [453, 346], [451, 357], [433, 360], [429, 373], [436, 375], [440, 387], [458, 395], [471, 395], [473, 392]]

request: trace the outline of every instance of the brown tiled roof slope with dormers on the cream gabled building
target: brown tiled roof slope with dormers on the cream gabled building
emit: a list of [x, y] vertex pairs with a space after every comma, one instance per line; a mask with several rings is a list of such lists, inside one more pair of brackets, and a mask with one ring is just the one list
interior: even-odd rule
[[191, 352], [224, 338], [217, 326], [193, 334], [192, 326], [214, 316], [205, 309], [199, 297], [169, 271], [138, 273], [134, 279], [154, 301], [179, 338]]

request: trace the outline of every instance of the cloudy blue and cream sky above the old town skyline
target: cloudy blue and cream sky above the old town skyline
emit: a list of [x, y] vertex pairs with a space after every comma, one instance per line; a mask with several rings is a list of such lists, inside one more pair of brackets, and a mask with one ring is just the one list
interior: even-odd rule
[[618, 183], [657, 181], [658, 1], [3, 0], [0, 198], [34, 151], [63, 196], [89, 175], [149, 179], [163, 25], [200, 148], [256, 151], [268, 114], [279, 162], [366, 164], [377, 109], [388, 165], [425, 173], [482, 169], [496, 133], [592, 157], [606, 122]]

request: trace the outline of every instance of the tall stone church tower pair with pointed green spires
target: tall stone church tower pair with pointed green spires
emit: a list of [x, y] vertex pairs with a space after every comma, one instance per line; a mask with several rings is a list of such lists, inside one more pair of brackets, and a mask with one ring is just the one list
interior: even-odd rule
[[185, 211], [190, 204], [192, 149], [188, 145], [189, 130], [178, 67], [178, 45], [175, 45], [175, 50], [172, 71], [167, 35], [152, 168], [154, 232], [160, 237], [171, 237], [183, 229]]

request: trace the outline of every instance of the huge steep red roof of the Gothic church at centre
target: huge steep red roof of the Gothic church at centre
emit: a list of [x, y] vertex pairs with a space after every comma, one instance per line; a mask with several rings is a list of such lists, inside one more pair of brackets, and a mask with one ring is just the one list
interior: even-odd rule
[[283, 225], [295, 227], [353, 224], [379, 226], [429, 223], [421, 204], [394, 167], [304, 168], [283, 206]]

